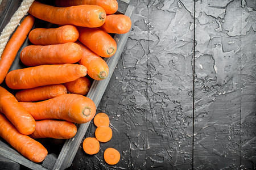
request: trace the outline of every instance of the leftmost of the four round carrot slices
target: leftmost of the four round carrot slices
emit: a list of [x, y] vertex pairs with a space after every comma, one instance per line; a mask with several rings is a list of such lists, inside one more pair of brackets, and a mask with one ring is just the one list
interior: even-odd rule
[[94, 155], [100, 151], [100, 142], [96, 138], [88, 137], [82, 142], [82, 148], [86, 154]]

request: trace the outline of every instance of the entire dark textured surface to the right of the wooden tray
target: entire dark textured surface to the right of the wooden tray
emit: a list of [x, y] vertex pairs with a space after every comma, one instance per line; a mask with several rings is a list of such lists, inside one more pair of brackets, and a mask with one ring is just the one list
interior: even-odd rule
[[113, 138], [93, 156], [80, 147], [69, 169], [254, 169], [256, 2], [131, 3], [133, 31], [97, 111]]

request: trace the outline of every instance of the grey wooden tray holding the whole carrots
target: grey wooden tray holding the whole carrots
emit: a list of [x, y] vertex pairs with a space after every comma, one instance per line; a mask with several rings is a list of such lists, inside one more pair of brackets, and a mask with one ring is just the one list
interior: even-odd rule
[[[3, 0], [0, 5], [0, 31], [5, 27], [5, 25], [9, 22], [11, 16], [14, 14], [15, 10], [18, 9], [21, 1], [7, 1]], [[133, 11], [134, 6], [130, 5], [130, 0], [118, 0], [118, 11], [117, 13], [125, 14], [129, 16], [133, 22]], [[36, 25], [36, 23], [35, 23]], [[40, 25], [40, 24], [39, 24]], [[51, 27], [51, 25], [47, 25], [47, 27]], [[130, 30], [131, 31], [131, 30]], [[92, 83], [92, 87], [88, 92], [87, 97], [92, 99], [96, 104], [96, 108], [100, 103], [102, 95], [104, 94], [106, 87], [108, 86], [109, 80], [113, 74], [115, 66], [121, 56], [123, 48], [125, 47], [127, 38], [129, 37], [130, 32], [122, 34], [122, 35], [114, 35], [114, 40], [117, 42], [117, 52], [114, 56], [110, 58], [105, 58], [106, 63], [109, 66], [109, 75], [105, 80], [97, 81], [94, 80]], [[24, 46], [29, 45], [30, 42], [28, 39], [24, 42], [22, 47], [20, 48], [13, 65], [11, 66], [11, 70], [20, 69], [24, 67], [19, 59], [19, 54], [21, 49]], [[13, 94], [15, 90], [9, 89], [5, 83], [1, 84], [2, 87], [7, 88]], [[0, 155], [5, 156], [6, 158], [13, 160], [19, 164], [24, 165], [25, 167], [31, 169], [65, 169], [68, 168], [73, 159], [75, 158], [76, 152], [81, 145], [82, 138], [84, 137], [86, 130], [88, 129], [90, 122], [86, 124], [76, 124], [77, 125], [77, 134], [75, 137], [71, 139], [65, 140], [61, 145], [63, 146], [59, 152], [59, 155], [56, 153], [48, 153], [46, 159], [42, 163], [34, 163], [20, 155], [13, 147], [11, 147], [8, 143], [6, 143], [2, 138], [0, 138]], [[58, 143], [57, 143], [58, 145]], [[53, 146], [54, 147], [54, 146]]]

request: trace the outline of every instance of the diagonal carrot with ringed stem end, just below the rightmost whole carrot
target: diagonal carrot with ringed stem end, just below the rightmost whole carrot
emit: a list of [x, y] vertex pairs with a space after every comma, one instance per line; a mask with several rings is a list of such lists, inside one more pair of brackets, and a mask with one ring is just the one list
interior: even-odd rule
[[79, 27], [79, 41], [101, 57], [111, 57], [117, 50], [117, 43], [100, 28]]

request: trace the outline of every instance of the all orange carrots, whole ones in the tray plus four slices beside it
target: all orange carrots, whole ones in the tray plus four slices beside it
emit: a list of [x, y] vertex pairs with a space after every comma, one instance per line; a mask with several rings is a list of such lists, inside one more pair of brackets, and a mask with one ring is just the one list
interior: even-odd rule
[[[55, 1], [55, 6], [34, 1], [19, 27], [7, 42], [0, 58], [0, 84], [17, 90], [15, 95], [0, 87], [0, 136], [32, 162], [42, 162], [47, 150], [35, 139], [69, 139], [76, 124], [94, 118], [96, 138], [86, 138], [86, 153], [96, 154], [100, 142], [112, 138], [109, 117], [96, 114], [96, 105], [86, 97], [92, 80], [104, 80], [117, 44], [110, 33], [127, 33], [128, 16], [115, 14], [116, 0]], [[33, 28], [35, 18], [56, 28]], [[32, 29], [32, 30], [31, 30]], [[20, 53], [23, 69], [9, 71], [28, 37], [31, 45]], [[95, 117], [94, 117], [95, 116]], [[104, 153], [108, 164], [120, 154], [114, 148]]]

